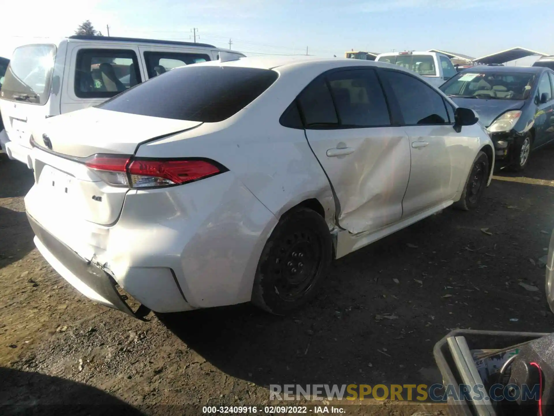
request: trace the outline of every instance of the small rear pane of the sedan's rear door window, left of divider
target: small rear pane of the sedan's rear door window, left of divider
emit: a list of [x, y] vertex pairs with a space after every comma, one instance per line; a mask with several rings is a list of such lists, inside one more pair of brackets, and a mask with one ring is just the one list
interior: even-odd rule
[[307, 129], [338, 126], [337, 112], [325, 78], [312, 81], [298, 97], [300, 111]]

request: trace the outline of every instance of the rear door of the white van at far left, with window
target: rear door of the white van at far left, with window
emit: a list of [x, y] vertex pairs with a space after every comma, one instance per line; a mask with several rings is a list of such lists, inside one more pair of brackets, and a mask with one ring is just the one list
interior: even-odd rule
[[7, 152], [28, 164], [32, 124], [50, 115], [50, 84], [56, 47], [24, 45], [14, 50], [0, 91], [0, 111], [8, 135]]

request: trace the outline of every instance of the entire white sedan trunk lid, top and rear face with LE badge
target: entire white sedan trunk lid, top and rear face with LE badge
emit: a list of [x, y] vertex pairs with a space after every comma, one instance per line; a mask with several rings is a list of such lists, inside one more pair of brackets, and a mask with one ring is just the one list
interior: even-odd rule
[[82, 242], [86, 235], [92, 241], [89, 245], [102, 240], [95, 226], [117, 221], [129, 188], [107, 184], [79, 158], [96, 153], [132, 155], [140, 143], [200, 124], [96, 108], [48, 119], [37, 126], [33, 137], [52, 151], [34, 148], [30, 153], [35, 184], [25, 197], [25, 207], [61, 241]]

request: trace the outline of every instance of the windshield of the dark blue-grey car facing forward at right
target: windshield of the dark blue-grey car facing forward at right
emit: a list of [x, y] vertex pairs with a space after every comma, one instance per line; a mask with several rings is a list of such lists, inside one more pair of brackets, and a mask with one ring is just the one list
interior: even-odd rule
[[466, 70], [441, 85], [440, 90], [453, 97], [525, 100], [534, 83], [535, 74]]

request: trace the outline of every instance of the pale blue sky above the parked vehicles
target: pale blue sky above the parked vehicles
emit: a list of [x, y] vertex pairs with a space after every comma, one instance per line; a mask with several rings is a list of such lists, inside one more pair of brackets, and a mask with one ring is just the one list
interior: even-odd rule
[[7, 57], [18, 44], [73, 34], [85, 19], [104, 34], [109, 24], [112, 36], [189, 40], [196, 27], [199, 42], [228, 48], [230, 38], [247, 55], [306, 46], [321, 57], [431, 48], [480, 57], [514, 46], [554, 54], [547, 0], [20, 0], [2, 8]]

